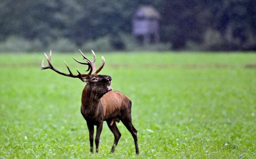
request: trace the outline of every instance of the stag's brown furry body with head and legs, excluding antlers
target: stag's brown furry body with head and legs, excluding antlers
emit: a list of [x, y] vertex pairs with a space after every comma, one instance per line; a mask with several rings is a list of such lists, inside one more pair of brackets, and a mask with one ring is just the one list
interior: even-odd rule
[[[98, 80], [93, 81], [93, 78], [97, 78]], [[98, 152], [103, 121], [107, 122], [109, 129], [114, 134], [114, 143], [111, 152], [115, 151], [115, 147], [121, 137], [116, 122], [121, 120], [132, 134], [136, 154], [139, 154], [137, 130], [132, 125], [132, 101], [121, 92], [108, 90], [107, 86], [111, 82], [110, 76], [93, 74], [90, 77], [86, 77], [86, 82], [87, 85], [84, 87], [81, 99], [81, 113], [89, 129], [91, 152], [93, 152], [94, 125], [97, 126], [95, 144], [96, 152]]]

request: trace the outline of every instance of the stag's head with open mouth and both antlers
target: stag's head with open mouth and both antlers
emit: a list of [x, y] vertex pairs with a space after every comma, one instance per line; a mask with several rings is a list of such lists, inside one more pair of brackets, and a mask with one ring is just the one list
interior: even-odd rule
[[[82, 53], [81, 50], [79, 50], [81, 55], [83, 56], [83, 59], [86, 60], [87, 62], [81, 62], [81, 61], [78, 61], [77, 59], [75, 59], [73, 57], [73, 59], [75, 61], [77, 61], [78, 63], [80, 64], [84, 64], [84, 65], [88, 65], [88, 69], [86, 71], [89, 71], [89, 73], [80, 73], [78, 70], [78, 74], [75, 75], [71, 72], [71, 70], [69, 69], [68, 67], [68, 64], [65, 62], [67, 68], [68, 68], [68, 71], [69, 71], [69, 74], [67, 73], [63, 73], [63, 72], [60, 72], [59, 70], [57, 70], [55, 67], [53, 67], [53, 65], [51, 64], [51, 51], [50, 51], [50, 56], [48, 57], [45, 53], [44, 55], [46, 56], [46, 59], [49, 63], [48, 66], [44, 66], [44, 59], [42, 60], [42, 70], [44, 69], [52, 69], [53, 71], [63, 75], [63, 76], [68, 76], [68, 77], [72, 77], [72, 78], [79, 78], [80, 80], [82, 80], [83, 82], [86, 82], [88, 87], [93, 91], [93, 92], [98, 92], [99, 94], [105, 94], [107, 93], [108, 91], [111, 91], [112, 88], [110, 87], [111, 85], [111, 80], [112, 78], [108, 75], [98, 75], [97, 73], [99, 73], [104, 64], [105, 64], [105, 59], [103, 56], [101, 56], [101, 59], [102, 59], [102, 64], [101, 66], [96, 70], [95, 69], [95, 61], [96, 61], [96, 56], [95, 56], [95, 53], [92, 51], [93, 53], [93, 61], [89, 60], [86, 56], [84, 56], [84, 54]], [[92, 74], [93, 73], [93, 74]]]

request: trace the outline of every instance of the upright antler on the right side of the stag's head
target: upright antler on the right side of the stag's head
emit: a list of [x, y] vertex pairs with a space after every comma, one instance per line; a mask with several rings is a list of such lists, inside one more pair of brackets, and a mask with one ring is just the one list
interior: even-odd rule
[[[96, 61], [95, 53], [92, 51], [92, 54], [93, 54], [93, 61], [91, 61], [91, 60], [89, 60], [86, 56], [84, 56], [84, 54], [82, 53], [81, 50], [79, 50], [79, 51], [80, 51], [80, 53], [82, 54], [82, 56], [84, 57], [84, 60], [87, 61], [87, 63], [78, 61], [77, 59], [75, 59], [75, 58], [73, 57], [73, 59], [74, 59], [75, 61], [77, 61], [78, 63], [81, 63], [81, 64], [86, 64], [86, 65], [88, 65], [88, 66], [91, 65], [93, 74], [97, 74], [97, 73], [99, 73], [99, 72], [102, 70], [102, 68], [103, 68], [103, 66], [104, 66], [104, 64], [105, 64], [105, 59], [104, 59], [103, 56], [101, 56], [101, 59], [102, 59], [102, 64], [101, 64], [101, 66], [95, 71], [95, 61]], [[89, 66], [89, 67], [90, 67], [90, 66]], [[88, 68], [88, 70], [89, 70], [89, 68]], [[87, 70], [87, 71], [88, 71], [88, 70]]]

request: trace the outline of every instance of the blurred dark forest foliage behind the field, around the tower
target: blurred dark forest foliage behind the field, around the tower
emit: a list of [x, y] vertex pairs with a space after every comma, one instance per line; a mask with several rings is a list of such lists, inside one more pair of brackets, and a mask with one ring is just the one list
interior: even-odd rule
[[[160, 43], [132, 37], [141, 5], [160, 13]], [[1, 52], [256, 50], [256, 1], [1, 0], [0, 27]]]

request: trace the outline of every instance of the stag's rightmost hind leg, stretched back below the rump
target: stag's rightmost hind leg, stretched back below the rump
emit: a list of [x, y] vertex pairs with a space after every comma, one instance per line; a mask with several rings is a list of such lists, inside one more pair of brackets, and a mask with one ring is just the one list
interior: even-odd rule
[[137, 130], [135, 129], [135, 127], [132, 125], [132, 119], [121, 119], [121, 121], [123, 122], [124, 126], [128, 129], [128, 131], [132, 134], [132, 137], [134, 139], [134, 144], [135, 144], [135, 151], [136, 154], [139, 155], [139, 147], [138, 147], [138, 138], [137, 138]]

